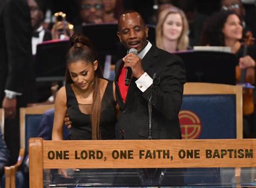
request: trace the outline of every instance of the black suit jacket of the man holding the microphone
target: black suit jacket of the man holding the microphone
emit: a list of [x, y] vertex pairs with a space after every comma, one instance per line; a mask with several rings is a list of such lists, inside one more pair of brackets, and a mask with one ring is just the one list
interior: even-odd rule
[[[144, 93], [136, 86], [132, 78], [125, 103], [123, 103], [117, 84], [120, 65], [116, 64], [116, 94], [120, 106], [118, 120], [118, 139], [146, 139], [149, 130], [149, 112], [147, 103], [151, 93]], [[152, 46], [142, 59], [144, 71], [153, 78], [157, 74], [156, 87], [152, 100], [152, 137], [153, 139], [180, 139], [181, 131], [178, 119], [185, 83], [184, 62], [174, 54]]]

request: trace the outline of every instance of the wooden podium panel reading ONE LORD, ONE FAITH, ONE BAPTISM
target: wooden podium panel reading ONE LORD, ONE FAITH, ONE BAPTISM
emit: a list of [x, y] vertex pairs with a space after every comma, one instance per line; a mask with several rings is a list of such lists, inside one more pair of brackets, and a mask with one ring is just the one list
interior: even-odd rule
[[43, 141], [43, 168], [256, 167], [256, 140]]

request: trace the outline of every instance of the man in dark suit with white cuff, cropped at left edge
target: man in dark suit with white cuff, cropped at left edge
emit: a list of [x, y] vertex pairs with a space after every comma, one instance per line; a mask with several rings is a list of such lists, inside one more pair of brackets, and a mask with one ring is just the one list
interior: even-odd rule
[[5, 110], [5, 141], [11, 164], [19, 151], [19, 107], [31, 99], [31, 23], [26, 0], [0, 1], [0, 107]]

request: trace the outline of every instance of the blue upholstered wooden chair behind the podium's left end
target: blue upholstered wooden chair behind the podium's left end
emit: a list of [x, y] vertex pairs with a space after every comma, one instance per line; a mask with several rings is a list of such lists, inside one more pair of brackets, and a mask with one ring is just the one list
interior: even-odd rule
[[28, 173], [22, 168], [24, 157], [28, 155], [29, 138], [37, 137], [43, 113], [53, 107], [54, 105], [41, 105], [20, 108], [20, 150], [17, 163], [11, 166], [11, 187], [29, 187]]

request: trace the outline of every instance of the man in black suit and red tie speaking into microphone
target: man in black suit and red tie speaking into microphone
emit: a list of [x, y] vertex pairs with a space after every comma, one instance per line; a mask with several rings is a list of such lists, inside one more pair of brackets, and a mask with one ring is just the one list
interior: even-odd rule
[[[147, 41], [148, 27], [138, 12], [123, 13], [118, 20], [117, 35], [127, 50], [136, 48], [116, 64], [116, 94], [120, 106], [118, 139], [147, 139], [150, 98], [152, 98], [152, 138], [180, 139], [178, 119], [185, 83], [184, 62]], [[132, 69], [132, 79], [125, 86], [126, 67]]]

